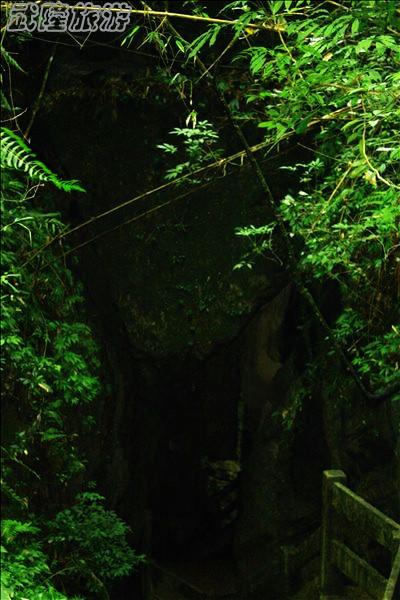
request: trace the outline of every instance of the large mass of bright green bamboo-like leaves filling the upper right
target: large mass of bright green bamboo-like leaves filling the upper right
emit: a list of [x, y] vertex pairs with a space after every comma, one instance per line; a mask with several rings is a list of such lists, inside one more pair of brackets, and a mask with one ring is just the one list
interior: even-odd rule
[[[196, 3], [196, 6], [197, 3]], [[188, 12], [196, 14], [193, 3]], [[207, 8], [201, 14], [207, 16]], [[214, 16], [214, 15], [213, 15]], [[265, 153], [297, 145], [283, 162], [297, 189], [276, 195], [296, 280], [340, 290], [333, 335], [369, 389], [400, 380], [400, 14], [392, 0], [238, 0], [197, 37], [165, 20], [163, 61], [225, 94], [231, 119], [258, 130]], [[144, 43], [149, 40], [144, 40]], [[171, 65], [180, 58], [179, 72]], [[183, 63], [183, 65], [182, 65]], [[223, 63], [224, 69], [220, 68]], [[230, 68], [231, 67], [231, 68]], [[235, 69], [247, 69], [247, 76]], [[205, 71], [204, 71], [205, 69]], [[195, 72], [195, 75], [193, 75]], [[240, 81], [238, 86], [238, 80]], [[192, 92], [191, 92], [192, 93]], [[163, 146], [175, 154], [175, 147]], [[284, 159], [283, 159], [284, 160]], [[212, 162], [212, 161], [209, 161]], [[183, 169], [195, 162], [187, 159]], [[175, 169], [175, 170], [174, 170]], [[177, 167], [170, 169], [176, 176]], [[268, 179], [268, 173], [266, 173]], [[277, 220], [237, 229], [255, 256], [282, 261]], [[311, 375], [310, 375], [311, 377]], [[311, 381], [310, 381], [311, 385]], [[399, 399], [392, 394], [392, 400]]]

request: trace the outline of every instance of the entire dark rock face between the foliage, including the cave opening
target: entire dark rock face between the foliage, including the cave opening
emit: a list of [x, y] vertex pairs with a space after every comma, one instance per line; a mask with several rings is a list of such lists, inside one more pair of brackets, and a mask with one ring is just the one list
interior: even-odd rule
[[[78, 60], [60, 51], [37, 120], [49, 165], [57, 160], [58, 172], [61, 166], [87, 188], [69, 206], [62, 200], [74, 224], [162, 184], [169, 165], [156, 145], [186, 117], [165, 87], [151, 83], [150, 62], [112, 52], [82, 51]], [[233, 149], [229, 135], [224, 142]], [[278, 164], [266, 164], [280, 197], [287, 190]], [[186, 191], [112, 211], [70, 241], [90, 242], [79, 250], [77, 270], [110, 384], [99, 406], [94, 471], [136, 546], [148, 547], [143, 522], [151, 513], [158, 557], [233, 548], [243, 590], [278, 598], [281, 546], [318, 527], [323, 468], [360, 476], [351, 423], [372, 416], [357, 403], [333, 401], [323, 386], [303, 394], [300, 414], [293, 391], [316, 357], [307, 342], [312, 327], [298, 329], [306, 311], [279, 261], [233, 269], [247, 249], [235, 228], [271, 219], [251, 171], [232, 171], [180, 198]], [[336, 364], [325, 367], [325, 375], [340, 374]], [[298, 428], [291, 427], [295, 417]], [[376, 443], [392, 465], [392, 434], [379, 418]], [[366, 427], [357, 439], [368, 446]], [[227, 475], [237, 482], [233, 521], [209, 485], [210, 465], [229, 462], [240, 465], [239, 475]]]

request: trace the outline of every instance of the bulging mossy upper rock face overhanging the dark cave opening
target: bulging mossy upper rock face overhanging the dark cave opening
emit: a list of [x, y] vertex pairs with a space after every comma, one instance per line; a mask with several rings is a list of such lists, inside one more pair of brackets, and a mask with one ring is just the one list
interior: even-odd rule
[[[62, 199], [65, 216], [77, 224], [162, 184], [170, 165], [156, 145], [184, 124], [186, 113], [177, 114], [177, 100], [165, 86], [157, 92], [154, 84], [150, 98], [146, 62], [84, 53], [77, 62], [76, 53], [66, 52], [58, 55], [53, 73], [36, 130], [49, 149], [49, 163], [57, 157], [59, 170], [73, 173], [87, 189], [69, 206]], [[63, 126], [66, 120], [70, 127]], [[226, 144], [229, 154], [232, 142], [227, 138]], [[202, 385], [196, 378], [206, 371], [220, 396], [232, 394], [235, 406], [229, 380], [241, 359], [227, 358], [233, 351], [222, 349], [235, 344], [288, 278], [277, 260], [234, 270], [248, 249], [235, 229], [270, 220], [246, 167], [187, 191], [170, 188], [112, 211], [82, 228], [70, 246], [90, 242], [77, 251], [78, 271], [99, 328], [111, 341], [113, 372], [118, 363], [132, 373], [149, 369], [153, 375], [139, 374], [139, 380], [152, 385], [158, 380], [156, 387], [164, 389], [157, 394], [167, 403], [171, 395], [196, 397], [195, 388]], [[202, 374], [184, 373], [187, 364]], [[211, 374], [213, 368], [225, 371], [223, 383]], [[123, 379], [117, 388], [129, 387], [126, 373]]]

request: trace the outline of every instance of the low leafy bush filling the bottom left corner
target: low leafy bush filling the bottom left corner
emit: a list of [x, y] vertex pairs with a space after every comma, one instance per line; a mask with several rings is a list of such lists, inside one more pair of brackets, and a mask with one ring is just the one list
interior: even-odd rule
[[67, 600], [55, 587], [60, 582], [70, 582], [79, 593], [104, 596], [109, 581], [144, 560], [128, 546], [128, 533], [127, 525], [106, 510], [103, 496], [93, 492], [78, 495], [71, 508], [41, 527], [3, 519], [2, 599]]

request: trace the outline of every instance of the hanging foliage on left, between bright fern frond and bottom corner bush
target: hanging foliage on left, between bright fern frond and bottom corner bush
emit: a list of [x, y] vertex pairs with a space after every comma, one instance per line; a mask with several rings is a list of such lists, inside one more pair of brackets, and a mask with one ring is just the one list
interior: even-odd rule
[[[56, 213], [33, 208], [28, 182], [12, 170], [2, 180], [1, 370], [10, 403], [19, 398], [29, 415], [8, 447], [8, 460], [24, 460], [38, 443], [56, 454], [56, 478], [65, 482], [83, 469], [76, 434], [66, 419], [70, 407], [87, 404], [99, 392], [97, 348], [89, 327], [77, 322], [82, 289], [49, 248], [27, 262], [63, 225]], [[33, 460], [33, 459], [32, 459]], [[30, 465], [36, 472], [36, 466]], [[7, 473], [6, 469], [6, 473]], [[17, 481], [14, 492], [29, 481]]]

